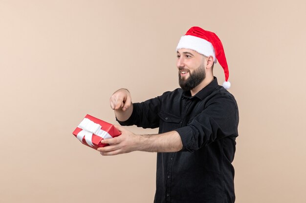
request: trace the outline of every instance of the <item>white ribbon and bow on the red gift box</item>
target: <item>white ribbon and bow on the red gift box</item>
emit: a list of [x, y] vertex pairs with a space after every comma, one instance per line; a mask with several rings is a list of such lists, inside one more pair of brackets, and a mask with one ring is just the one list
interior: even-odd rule
[[99, 124], [89, 120], [88, 118], [84, 118], [83, 121], [78, 126], [78, 128], [82, 130], [77, 134], [77, 138], [81, 142], [83, 142], [83, 137], [85, 137], [86, 143], [91, 147], [93, 147], [93, 144], [91, 141], [92, 134], [98, 135], [99, 137], [102, 137], [103, 139], [112, 138], [107, 131], [104, 131], [103, 129], [101, 129], [102, 127]]

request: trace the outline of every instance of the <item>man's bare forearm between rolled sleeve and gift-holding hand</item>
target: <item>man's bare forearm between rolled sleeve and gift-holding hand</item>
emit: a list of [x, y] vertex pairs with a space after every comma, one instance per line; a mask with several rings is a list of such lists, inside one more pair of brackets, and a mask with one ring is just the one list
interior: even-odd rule
[[139, 151], [175, 152], [183, 148], [181, 138], [176, 131], [162, 134], [140, 135]]

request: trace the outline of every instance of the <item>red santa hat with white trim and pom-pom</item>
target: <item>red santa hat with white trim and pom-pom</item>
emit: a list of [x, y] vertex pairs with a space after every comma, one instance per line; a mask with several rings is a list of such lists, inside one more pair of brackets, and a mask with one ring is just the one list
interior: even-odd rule
[[228, 81], [229, 73], [223, 46], [215, 33], [203, 30], [200, 27], [192, 27], [180, 38], [176, 51], [179, 49], [192, 49], [199, 54], [213, 56], [214, 63], [217, 63], [218, 60], [224, 70], [225, 81], [222, 86], [225, 89], [231, 87], [231, 83]]

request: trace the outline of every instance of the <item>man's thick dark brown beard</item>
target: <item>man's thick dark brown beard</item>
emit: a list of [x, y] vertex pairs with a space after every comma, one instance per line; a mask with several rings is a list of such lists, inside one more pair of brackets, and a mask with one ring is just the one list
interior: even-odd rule
[[[179, 71], [183, 68], [179, 68]], [[184, 91], [190, 91], [197, 87], [206, 77], [204, 65], [199, 66], [194, 73], [189, 72], [187, 79], [182, 78], [180, 72], [178, 72], [178, 83]]]

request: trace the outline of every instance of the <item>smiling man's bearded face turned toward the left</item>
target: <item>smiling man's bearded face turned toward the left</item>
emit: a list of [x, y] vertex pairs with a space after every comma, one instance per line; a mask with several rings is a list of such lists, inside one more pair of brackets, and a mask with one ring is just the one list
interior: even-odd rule
[[190, 49], [177, 51], [176, 66], [178, 68], [179, 86], [189, 91], [197, 87], [205, 79], [205, 56]]

